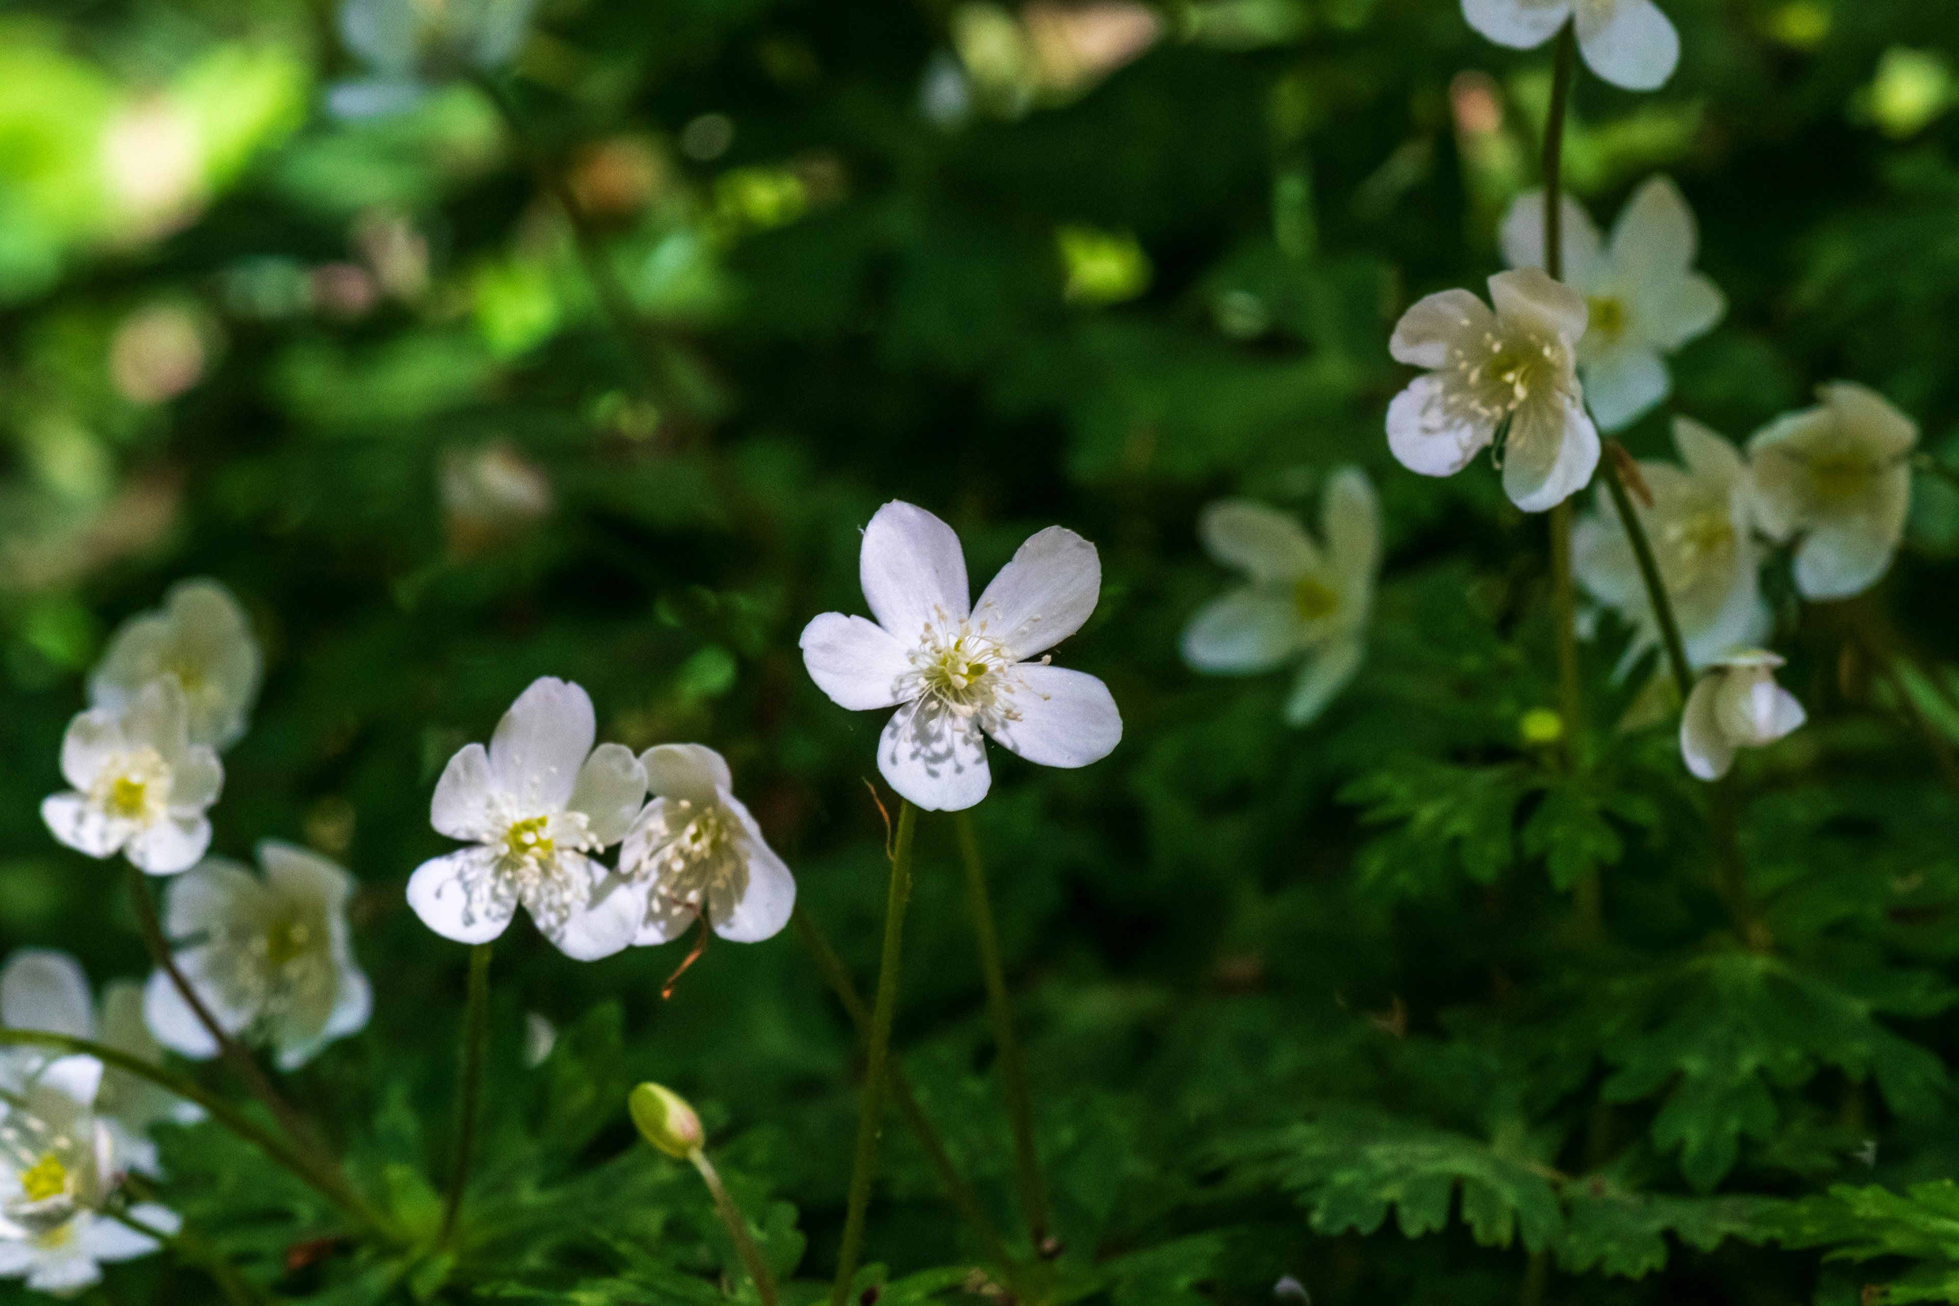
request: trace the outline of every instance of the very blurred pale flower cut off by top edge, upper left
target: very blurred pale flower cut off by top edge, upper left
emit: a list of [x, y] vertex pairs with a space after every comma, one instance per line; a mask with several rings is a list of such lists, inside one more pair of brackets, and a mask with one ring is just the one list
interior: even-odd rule
[[427, 82], [490, 70], [523, 45], [535, 0], [345, 0], [341, 39], [370, 76], [339, 82], [327, 104], [343, 117], [415, 104]]

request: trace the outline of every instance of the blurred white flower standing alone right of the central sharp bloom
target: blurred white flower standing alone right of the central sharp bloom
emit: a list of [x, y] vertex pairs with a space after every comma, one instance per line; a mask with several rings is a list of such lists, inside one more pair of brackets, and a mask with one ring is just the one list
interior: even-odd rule
[[1267, 672], [1305, 658], [1285, 721], [1311, 723], [1360, 670], [1367, 611], [1381, 566], [1381, 517], [1360, 468], [1326, 482], [1322, 550], [1287, 513], [1222, 499], [1197, 519], [1213, 558], [1250, 585], [1209, 603], [1183, 630], [1183, 660], [1199, 672]]

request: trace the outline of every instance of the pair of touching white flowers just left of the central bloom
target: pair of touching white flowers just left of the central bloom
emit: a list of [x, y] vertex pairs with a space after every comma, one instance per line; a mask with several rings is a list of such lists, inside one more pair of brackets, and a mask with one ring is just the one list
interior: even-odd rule
[[[795, 879], [733, 795], [721, 754], [662, 744], [635, 758], [623, 744], [594, 748], [596, 738], [586, 691], [545, 676], [517, 695], [488, 748], [468, 744], [449, 760], [431, 822], [470, 846], [409, 877], [423, 924], [486, 944], [523, 905], [580, 961], [664, 944], [703, 910], [737, 942], [788, 924]], [[621, 842], [617, 867], [594, 856]]]

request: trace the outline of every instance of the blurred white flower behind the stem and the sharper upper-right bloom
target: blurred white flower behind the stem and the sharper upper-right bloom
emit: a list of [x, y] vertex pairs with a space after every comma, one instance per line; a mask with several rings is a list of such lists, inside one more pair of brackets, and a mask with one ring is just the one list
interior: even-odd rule
[[[1693, 270], [1700, 233], [1679, 188], [1655, 176], [1634, 192], [1602, 245], [1591, 215], [1563, 198], [1559, 223], [1565, 284], [1585, 296], [1579, 339], [1585, 401], [1604, 431], [1622, 431], [1673, 390], [1661, 354], [1706, 335], [1728, 302]], [[1503, 255], [1512, 268], [1544, 266], [1544, 192], [1528, 190], [1503, 219]]]

